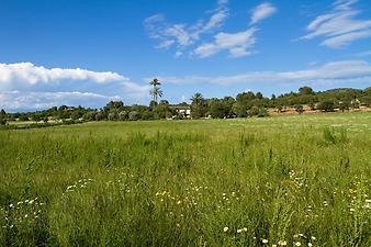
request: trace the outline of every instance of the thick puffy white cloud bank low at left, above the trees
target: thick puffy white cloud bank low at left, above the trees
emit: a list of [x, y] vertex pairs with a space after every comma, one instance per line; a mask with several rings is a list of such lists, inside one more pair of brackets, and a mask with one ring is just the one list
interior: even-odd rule
[[[148, 86], [111, 71], [0, 64], [0, 108], [41, 109], [59, 104], [101, 106], [109, 99], [142, 100]], [[43, 106], [44, 105], [44, 106]]]

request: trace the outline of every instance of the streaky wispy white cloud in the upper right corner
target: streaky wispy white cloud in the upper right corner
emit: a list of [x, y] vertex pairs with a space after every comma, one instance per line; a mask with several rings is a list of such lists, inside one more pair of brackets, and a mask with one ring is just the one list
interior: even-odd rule
[[357, 20], [360, 11], [352, 5], [358, 0], [338, 0], [328, 13], [318, 15], [307, 25], [308, 33], [302, 40], [324, 37], [323, 46], [339, 48], [353, 41], [371, 36], [371, 20]]

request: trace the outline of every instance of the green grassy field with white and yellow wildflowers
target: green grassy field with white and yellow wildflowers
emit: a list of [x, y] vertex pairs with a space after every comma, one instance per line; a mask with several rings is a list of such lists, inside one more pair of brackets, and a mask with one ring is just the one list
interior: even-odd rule
[[371, 114], [0, 131], [0, 246], [371, 246]]

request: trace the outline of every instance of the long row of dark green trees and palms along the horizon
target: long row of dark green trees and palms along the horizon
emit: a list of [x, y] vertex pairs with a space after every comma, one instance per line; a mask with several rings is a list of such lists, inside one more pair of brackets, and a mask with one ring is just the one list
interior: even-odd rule
[[361, 105], [371, 106], [371, 87], [360, 89], [331, 89], [315, 92], [310, 87], [302, 87], [296, 92], [272, 94], [270, 98], [263, 97], [261, 92], [241, 92], [234, 97], [204, 98], [201, 93], [195, 93], [190, 99], [191, 103], [170, 104], [167, 100], [158, 98], [162, 96], [159, 88], [160, 82], [154, 79], [150, 85], [150, 96], [153, 100], [149, 105], [124, 105], [122, 101], [111, 101], [102, 109], [90, 109], [82, 106], [54, 106], [44, 111], [36, 112], [0, 112], [0, 124], [7, 121], [35, 121], [48, 122], [50, 120], [60, 121], [136, 121], [136, 120], [159, 120], [159, 119], [183, 119], [184, 114], [179, 109], [190, 109], [192, 119], [213, 117], [232, 119], [249, 116], [267, 116], [268, 109], [276, 109], [283, 112], [286, 108], [294, 108], [301, 114], [304, 105], [311, 110], [330, 112], [335, 109], [347, 111], [358, 109]]

